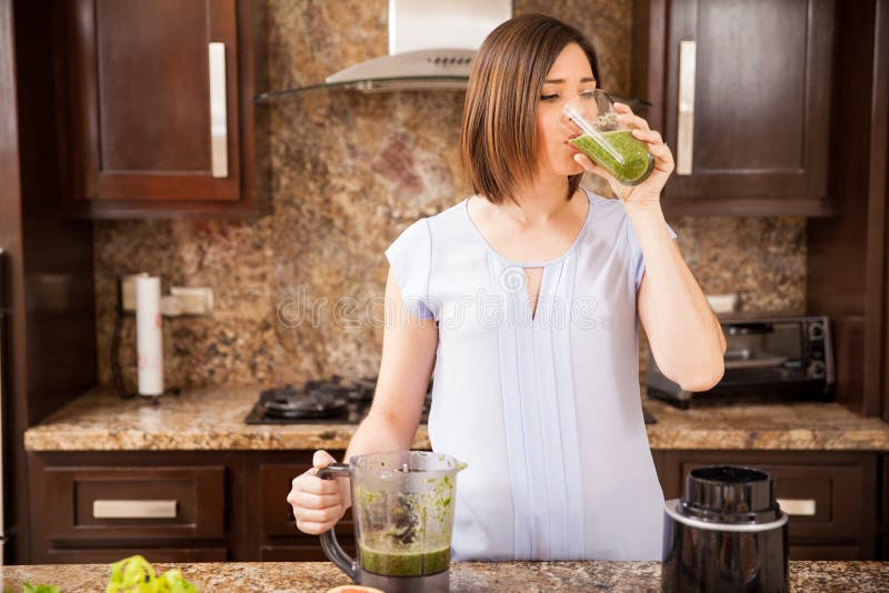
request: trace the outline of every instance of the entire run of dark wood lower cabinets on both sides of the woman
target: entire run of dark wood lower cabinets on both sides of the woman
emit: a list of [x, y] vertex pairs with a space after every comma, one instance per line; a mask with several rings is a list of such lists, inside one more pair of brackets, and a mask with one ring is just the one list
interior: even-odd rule
[[[342, 458], [342, 451], [331, 451]], [[311, 451], [30, 453], [32, 563], [326, 561], [287, 503]], [[652, 451], [667, 499], [689, 471], [768, 471], [790, 514], [791, 560], [875, 560], [889, 553], [889, 458], [876, 453]], [[336, 526], [354, 554], [351, 514]]]

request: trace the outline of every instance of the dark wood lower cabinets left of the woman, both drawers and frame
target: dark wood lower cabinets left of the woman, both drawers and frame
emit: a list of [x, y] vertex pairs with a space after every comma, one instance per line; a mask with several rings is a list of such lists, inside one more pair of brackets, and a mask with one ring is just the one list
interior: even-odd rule
[[[342, 451], [331, 451], [341, 459]], [[33, 563], [326, 561], [287, 494], [311, 451], [32, 452]], [[337, 537], [354, 554], [351, 512]]]

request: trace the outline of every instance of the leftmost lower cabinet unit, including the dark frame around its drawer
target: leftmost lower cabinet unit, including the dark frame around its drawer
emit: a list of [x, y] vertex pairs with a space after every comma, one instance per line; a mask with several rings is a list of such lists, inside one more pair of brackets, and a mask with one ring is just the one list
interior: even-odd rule
[[33, 563], [243, 555], [243, 458], [230, 452], [29, 455]]

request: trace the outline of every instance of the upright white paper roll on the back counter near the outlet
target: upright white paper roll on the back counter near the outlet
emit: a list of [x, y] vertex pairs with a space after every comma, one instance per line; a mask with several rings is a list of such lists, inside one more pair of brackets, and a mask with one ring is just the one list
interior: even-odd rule
[[136, 279], [136, 352], [139, 393], [163, 393], [163, 334], [160, 315], [160, 278]]

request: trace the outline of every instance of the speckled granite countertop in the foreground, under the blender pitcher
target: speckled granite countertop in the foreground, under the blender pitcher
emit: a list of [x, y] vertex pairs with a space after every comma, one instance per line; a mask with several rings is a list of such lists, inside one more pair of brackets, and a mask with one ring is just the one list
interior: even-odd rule
[[[323, 592], [349, 584], [328, 562], [157, 564], [157, 572], [180, 569], [200, 591]], [[0, 585], [61, 584], [62, 592], [103, 591], [102, 564], [3, 566]], [[886, 562], [791, 562], [791, 591], [877, 592], [889, 587]], [[456, 562], [451, 591], [660, 591], [659, 562]]]

